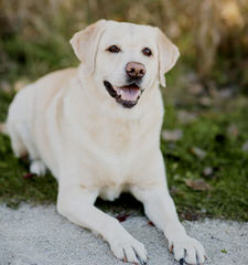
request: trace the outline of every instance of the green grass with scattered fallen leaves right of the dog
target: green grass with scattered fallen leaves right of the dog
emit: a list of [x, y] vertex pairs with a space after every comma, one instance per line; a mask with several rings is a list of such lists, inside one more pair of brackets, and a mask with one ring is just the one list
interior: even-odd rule
[[[246, 108], [229, 113], [205, 110], [193, 124], [182, 125], [176, 120], [175, 109], [169, 108], [165, 127], [181, 128], [184, 135], [176, 145], [162, 142], [162, 150], [169, 186], [177, 188], [174, 200], [184, 215], [248, 221], [248, 153], [241, 149], [248, 139], [247, 120]], [[233, 123], [239, 131], [237, 137], [227, 132]], [[205, 150], [205, 158], [192, 153], [192, 147]], [[209, 177], [204, 177], [206, 167], [213, 169]], [[185, 184], [188, 179], [203, 179], [209, 189], [194, 190]]]

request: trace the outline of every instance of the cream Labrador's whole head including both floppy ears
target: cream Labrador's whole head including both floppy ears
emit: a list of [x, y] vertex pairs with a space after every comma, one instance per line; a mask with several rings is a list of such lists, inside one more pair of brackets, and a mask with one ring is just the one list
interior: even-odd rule
[[[99, 20], [76, 33], [71, 44], [85, 75], [123, 107], [133, 107], [144, 89], [173, 67], [180, 53], [158, 28]], [[109, 94], [109, 95], [108, 95]]]

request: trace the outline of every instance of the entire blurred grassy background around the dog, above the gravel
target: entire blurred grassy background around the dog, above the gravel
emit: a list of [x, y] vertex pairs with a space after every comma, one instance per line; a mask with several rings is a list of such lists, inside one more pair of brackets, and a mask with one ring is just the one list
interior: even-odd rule
[[[0, 0], [0, 120], [25, 84], [76, 66], [69, 39], [103, 18], [160, 26], [181, 51], [161, 139], [181, 216], [248, 220], [247, 0]], [[1, 135], [0, 200], [51, 202], [55, 189]]]

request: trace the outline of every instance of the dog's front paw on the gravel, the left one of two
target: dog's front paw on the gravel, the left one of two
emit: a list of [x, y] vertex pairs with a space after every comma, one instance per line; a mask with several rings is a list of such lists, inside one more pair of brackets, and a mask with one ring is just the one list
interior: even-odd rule
[[144, 245], [132, 236], [115, 239], [115, 241], [110, 243], [110, 248], [115, 256], [123, 262], [140, 265], [147, 264], [148, 253]]

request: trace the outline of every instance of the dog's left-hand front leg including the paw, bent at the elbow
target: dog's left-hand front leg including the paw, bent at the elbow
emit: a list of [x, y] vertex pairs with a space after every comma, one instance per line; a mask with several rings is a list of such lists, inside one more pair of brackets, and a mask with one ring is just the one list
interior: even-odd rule
[[60, 182], [57, 211], [73, 223], [100, 234], [118, 258], [145, 264], [147, 252], [143, 244], [133, 239], [115, 218], [94, 205], [97, 195], [97, 190]]

